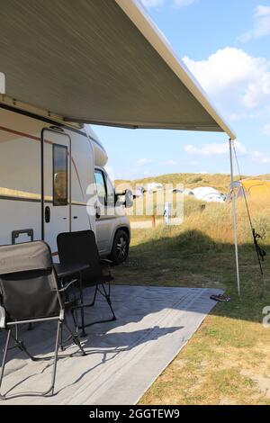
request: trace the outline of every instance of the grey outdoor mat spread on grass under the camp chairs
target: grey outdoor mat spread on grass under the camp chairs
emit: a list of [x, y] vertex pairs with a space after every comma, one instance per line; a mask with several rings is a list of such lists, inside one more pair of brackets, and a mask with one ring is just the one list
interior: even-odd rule
[[[82, 340], [87, 356], [58, 360], [56, 395], [21, 397], [0, 405], [137, 403], [211, 311], [216, 303], [211, 294], [219, 293], [218, 289], [112, 286], [117, 320], [87, 328], [88, 336]], [[109, 318], [110, 312], [99, 299], [94, 308], [85, 310], [85, 320], [100, 317]], [[54, 323], [37, 324], [31, 331], [23, 330], [23, 339], [32, 354], [51, 355], [55, 332]], [[59, 355], [74, 351], [76, 347], [69, 346]], [[11, 390], [9, 396], [49, 387], [51, 362], [31, 362], [17, 349], [10, 351], [8, 360], [3, 390]]]

